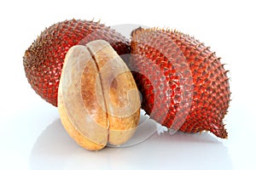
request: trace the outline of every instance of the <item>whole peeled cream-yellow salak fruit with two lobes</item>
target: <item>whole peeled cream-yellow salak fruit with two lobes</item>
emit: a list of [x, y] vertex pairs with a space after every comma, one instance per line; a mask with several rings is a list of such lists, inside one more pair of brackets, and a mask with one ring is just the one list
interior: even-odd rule
[[108, 42], [68, 50], [58, 110], [67, 133], [87, 150], [131, 139], [140, 118], [140, 96], [131, 71]]

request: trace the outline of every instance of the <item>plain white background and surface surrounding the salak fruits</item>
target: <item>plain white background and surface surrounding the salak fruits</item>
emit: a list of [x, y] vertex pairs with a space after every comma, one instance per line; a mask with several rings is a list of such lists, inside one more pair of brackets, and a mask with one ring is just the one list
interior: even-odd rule
[[[0, 169], [255, 169], [255, 8], [253, 0], [1, 1]], [[45, 27], [73, 18], [175, 28], [211, 46], [230, 70], [229, 139], [154, 133], [131, 147], [80, 148], [22, 65]]]

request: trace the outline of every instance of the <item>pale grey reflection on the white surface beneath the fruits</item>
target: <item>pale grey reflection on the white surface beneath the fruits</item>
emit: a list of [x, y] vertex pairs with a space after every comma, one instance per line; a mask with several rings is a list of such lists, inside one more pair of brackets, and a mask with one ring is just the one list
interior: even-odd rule
[[130, 147], [89, 151], [55, 120], [38, 137], [30, 156], [40, 169], [232, 169], [228, 149], [210, 133], [154, 133]]

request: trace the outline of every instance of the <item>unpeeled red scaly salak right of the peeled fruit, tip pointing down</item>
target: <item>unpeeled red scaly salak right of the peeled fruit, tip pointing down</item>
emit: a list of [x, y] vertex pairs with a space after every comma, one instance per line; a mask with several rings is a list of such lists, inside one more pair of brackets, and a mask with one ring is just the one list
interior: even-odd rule
[[175, 130], [210, 131], [227, 138], [223, 119], [230, 85], [215, 53], [178, 31], [138, 28], [131, 38], [127, 64], [143, 95], [146, 113]]

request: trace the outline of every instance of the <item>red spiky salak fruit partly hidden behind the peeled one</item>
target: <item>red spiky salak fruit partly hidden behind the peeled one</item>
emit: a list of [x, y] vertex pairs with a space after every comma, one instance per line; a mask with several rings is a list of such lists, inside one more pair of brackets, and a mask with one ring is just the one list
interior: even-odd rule
[[23, 57], [27, 80], [35, 92], [57, 106], [61, 70], [67, 50], [73, 45], [97, 39], [109, 42], [119, 55], [130, 53], [130, 44], [125, 37], [99, 22], [66, 20], [46, 28]]

